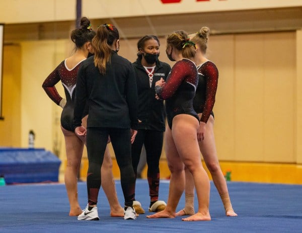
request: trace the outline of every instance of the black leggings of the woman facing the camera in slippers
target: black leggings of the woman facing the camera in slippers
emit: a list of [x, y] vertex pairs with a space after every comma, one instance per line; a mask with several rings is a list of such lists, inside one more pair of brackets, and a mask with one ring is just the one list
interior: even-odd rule
[[144, 144], [147, 159], [147, 178], [149, 184], [149, 195], [151, 201], [159, 198], [160, 186], [160, 158], [162, 154], [164, 132], [155, 130], [139, 129], [132, 144], [132, 166], [137, 174], [137, 166], [140, 158], [141, 148]]

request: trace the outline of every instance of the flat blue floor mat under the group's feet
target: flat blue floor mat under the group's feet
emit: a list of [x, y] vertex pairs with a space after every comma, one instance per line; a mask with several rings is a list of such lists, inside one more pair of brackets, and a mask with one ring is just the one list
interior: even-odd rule
[[[87, 203], [85, 182], [79, 182], [82, 208]], [[184, 222], [173, 219], [148, 219], [140, 214], [136, 220], [110, 217], [107, 199], [100, 191], [100, 221], [79, 221], [69, 217], [69, 205], [63, 184], [0, 186], [0, 232], [302, 232], [302, 186], [228, 182], [232, 204], [238, 217], [226, 217], [219, 194], [211, 182], [211, 221]], [[123, 196], [116, 181], [120, 203]], [[167, 201], [169, 181], [161, 180], [160, 199]], [[183, 195], [184, 196], [184, 195]], [[137, 180], [136, 200], [147, 210], [146, 180]], [[184, 206], [181, 198], [177, 210]], [[197, 201], [195, 198], [195, 210]]]

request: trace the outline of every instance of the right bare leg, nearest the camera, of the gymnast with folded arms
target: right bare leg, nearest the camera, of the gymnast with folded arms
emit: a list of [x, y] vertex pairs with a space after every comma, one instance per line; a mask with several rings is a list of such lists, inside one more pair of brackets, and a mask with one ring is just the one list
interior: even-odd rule
[[196, 118], [180, 114], [173, 119], [172, 134], [180, 157], [193, 176], [197, 199], [198, 211], [184, 221], [211, 220], [209, 214], [210, 183], [200, 160], [200, 151], [197, 141]]

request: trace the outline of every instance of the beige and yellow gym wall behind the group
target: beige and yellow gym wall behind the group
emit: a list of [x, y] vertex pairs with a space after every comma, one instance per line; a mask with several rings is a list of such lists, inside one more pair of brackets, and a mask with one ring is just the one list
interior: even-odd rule
[[[297, 41], [300, 37], [300, 31], [210, 36], [208, 58], [219, 69], [214, 113], [220, 160], [301, 163], [298, 141], [302, 129], [302, 86], [301, 68], [296, 64], [301, 58], [301, 40]], [[137, 39], [122, 40], [120, 55], [134, 61], [136, 42]], [[168, 62], [164, 38], [161, 42], [160, 58]], [[9, 119], [16, 119], [16, 126], [10, 137], [0, 135], [0, 145], [26, 147], [28, 131], [33, 129], [36, 146], [53, 150], [58, 142], [60, 158], [64, 160], [64, 140], [59, 129], [61, 109], [50, 101], [41, 85], [56, 65], [70, 55], [70, 48], [67, 39], [5, 46], [3, 88], [11, 96], [4, 96], [3, 113], [7, 120], [0, 122], [0, 127], [1, 131], [11, 127]], [[13, 69], [17, 74], [10, 74], [8, 64], [17, 66]], [[19, 85], [8, 82], [10, 75], [18, 76], [20, 66]], [[57, 87], [63, 93], [60, 83]], [[18, 105], [17, 112], [8, 110], [13, 102], [20, 102], [20, 115]], [[18, 138], [20, 144], [16, 142]]]

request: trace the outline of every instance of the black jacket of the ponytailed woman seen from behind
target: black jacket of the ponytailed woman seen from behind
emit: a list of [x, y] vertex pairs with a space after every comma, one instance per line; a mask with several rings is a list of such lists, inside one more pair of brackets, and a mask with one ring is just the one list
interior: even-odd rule
[[81, 126], [88, 100], [87, 127], [137, 129], [137, 89], [133, 66], [115, 51], [103, 75], [94, 56], [82, 62], [77, 76], [73, 126]]

